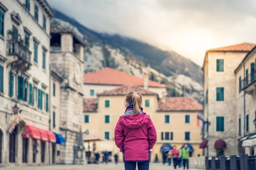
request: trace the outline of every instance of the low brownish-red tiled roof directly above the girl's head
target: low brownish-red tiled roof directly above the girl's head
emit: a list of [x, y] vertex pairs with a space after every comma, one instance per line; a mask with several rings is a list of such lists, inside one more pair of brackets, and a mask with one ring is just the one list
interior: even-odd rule
[[156, 93], [146, 90], [140, 86], [133, 86], [133, 85], [122, 85], [118, 88], [113, 90], [104, 91], [103, 93], [97, 94], [98, 96], [125, 96], [131, 91], [139, 92], [142, 95], [157, 95]]

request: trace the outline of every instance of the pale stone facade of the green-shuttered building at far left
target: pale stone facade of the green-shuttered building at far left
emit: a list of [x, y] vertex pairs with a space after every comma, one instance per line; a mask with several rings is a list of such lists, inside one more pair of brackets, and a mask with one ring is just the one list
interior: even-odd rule
[[[28, 138], [27, 154], [23, 154], [23, 138], [25, 127], [17, 125], [17, 133], [15, 133], [15, 144], [10, 152], [10, 133], [8, 132], [8, 122], [13, 116], [12, 107], [17, 104], [20, 108], [20, 116], [23, 118], [27, 125], [32, 125], [44, 130], [49, 130], [49, 111], [47, 112], [47, 94], [49, 94], [49, 48], [50, 48], [50, 35], [49, 35], [49, 18], [53, 16], [53, 11], [47, 3], [39, 4], [37, 0], [30, 0], [30, 8], [24, 6], [25, 0], [1, 0], [0, 11], [4, 12], [4, 34], [0, 35], [0, 66], [3, 67], [3, 92], [0, 92], [0, 131], [1, 131], [1, 155], [0, 166], [14, 166], [20, 165], [45, 165], [51, 164], [49, 160], [49, 153], [51, 152], [51, 144], [45, 142], [44, 146], [44, 162], [41, 160], [41, 142], [36, 140], [37, 152], [36, 161], [32, 161], [32, 139]], [[35, 4], [38, 6], [38, 21], [35, 19]], [[29, 11], [30, 10], [30, 11]], [[45, 16], [45, 28], [43, 23], [43, 16]], [[19, 39], [15, 42], [23, 43], [20, 40], [25, 39], [25, 34], [29, 35], [27, 40], [29, 42], [27, 48], [19, 51], [18, 54], [10, 52], [10, 37], [9, 32], [12, 33], [13, 28], [17, 28], [17, 35]], [[40, 40], [40, 41], [39, 41]], [[38, 43], [37, 49], [37, 62], [34, 62], [34, 41]], [[15, 44], [15, 45], [16, 45]], [[23, 44], [24, 45], [24, 44]], [[14, 48], [17, 50], [16, 48]], [[19, 49], [20, 50], [20, 49]], [[29, 52], [28, 52], [29, 50]], [[45, 65], [43, 68], [43, 51], [45, 52]], [[18, 57], [22, 52], [23, 55]], [[26, 58], [26, 59], [25, 59]], [[20, 65], [20, 62], [23, 63]], [[26, 65], [26, 68], [23, 66]], [[21, 67], [20, 67], [21, 66]], [[12, 88], [10, 86], [10, 73], [12, 72]], [[27, 83], [22, 86], [22, 90], [18, 89], [19, 78], [26, 79]], [[35, 94], [32, 96], [34, 104], [30, 103], [32, 99], [29, 95], [30, 85], [32, 84], [33, 91], [36, 88]], [[24, 89], [24, 91], [23, 91]], [[42, 106], [38, 108], [38, 89], [42, 91]], [[32, 89], [31, 89], [32, 90]], [[12, 93], [10, 92], [12, 91]], [[22, 99], [20, 98], [20, 91]], [[10, 153], [13, 153], [14, 159], [10, 159]], [[26, 161], [23, 161], [24, 155]], [[12, 163], [13, 162], [13, 163]]]

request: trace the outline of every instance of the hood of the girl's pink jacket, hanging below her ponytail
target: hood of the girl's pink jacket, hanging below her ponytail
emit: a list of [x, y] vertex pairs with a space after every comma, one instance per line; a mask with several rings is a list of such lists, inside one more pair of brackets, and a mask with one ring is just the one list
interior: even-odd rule
[[146, 119], [146, 113], [139, 113], [137, 115], [121, 116], [120, 122], [130, 129], [141, 127]]

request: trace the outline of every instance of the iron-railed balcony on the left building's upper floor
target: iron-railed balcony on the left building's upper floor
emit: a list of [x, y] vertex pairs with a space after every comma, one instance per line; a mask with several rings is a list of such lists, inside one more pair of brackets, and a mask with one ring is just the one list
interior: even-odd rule
[[23, 42], [18, 40], [7, 41], [7, 56], [8, 65], [12, 65], [12, 69], [17, 71], [25, 72], [32, 65], [31, 51]]

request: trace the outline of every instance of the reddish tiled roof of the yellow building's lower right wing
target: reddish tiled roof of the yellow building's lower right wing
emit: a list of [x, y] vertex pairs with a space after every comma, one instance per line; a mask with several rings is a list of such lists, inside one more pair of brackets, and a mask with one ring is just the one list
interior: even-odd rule
[[202, 111], [202, 106], [191, 97], [167, 97], [158, 101], [157, 111]]

